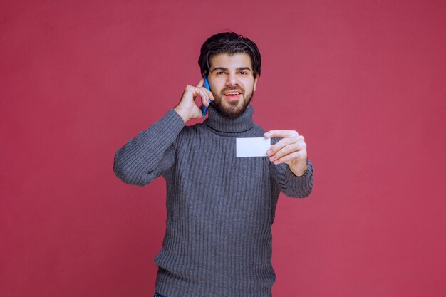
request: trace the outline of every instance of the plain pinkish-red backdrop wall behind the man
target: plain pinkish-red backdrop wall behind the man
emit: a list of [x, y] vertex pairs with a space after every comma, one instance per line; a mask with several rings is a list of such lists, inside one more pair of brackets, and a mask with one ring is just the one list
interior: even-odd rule
[[199, 80], [202, 42], [261, 50], [254, 119], [306, 137], [275, 297], [446, 296], [445, 1], [1, 1], [0, 295], [152, 296], [165, 182], [115, 150]]

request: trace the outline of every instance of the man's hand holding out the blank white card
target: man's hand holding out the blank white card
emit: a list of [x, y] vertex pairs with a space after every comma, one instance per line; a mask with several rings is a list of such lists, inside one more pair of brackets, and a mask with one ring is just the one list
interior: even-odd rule
[[281, 140], [266, 152], [275, 165], [286, 163], [294, 175], [301, 177], [308, 169], [304, 136], [294, 130], [271, 130], [264, 137], [281, 137]]

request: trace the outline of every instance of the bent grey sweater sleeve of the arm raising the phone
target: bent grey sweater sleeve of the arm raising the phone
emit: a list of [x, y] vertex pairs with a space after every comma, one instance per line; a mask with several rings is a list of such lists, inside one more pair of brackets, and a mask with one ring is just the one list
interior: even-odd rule
[[115, 153], [113, 172], [123, 182], [144, 186], [172, 167], [173, 142], [185, 126], [175, 110], [127, 142]]

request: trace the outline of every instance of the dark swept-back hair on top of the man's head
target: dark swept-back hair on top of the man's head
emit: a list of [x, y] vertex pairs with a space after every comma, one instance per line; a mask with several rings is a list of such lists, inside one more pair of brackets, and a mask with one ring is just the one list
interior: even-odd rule
[[204, 41], [200, 50], [198, 65], [204, 75], [209, 74], [209, 60], [218, 53], [247, 53], [251, 57], [252, 74], [254, 78], [260, 76], [260, 52], [256, 43], [234, 32], [224, 32], [212, 35]]

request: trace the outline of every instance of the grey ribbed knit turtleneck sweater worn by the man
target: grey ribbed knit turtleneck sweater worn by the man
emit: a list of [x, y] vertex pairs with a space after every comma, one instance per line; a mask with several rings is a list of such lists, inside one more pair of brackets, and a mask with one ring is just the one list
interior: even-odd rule
[[[167, 222], [155, 291], [168, 297], [271, 297], [271, 224], [279, 192], [307, 197], [313, 167], [296, 177], [267, 157], [236, 157], [237, 137], [262, 137], [249, 106], [229, 119], [212, 106], [185, 126], [170, 110], [121, 147], [113, 170], [143, 186], [162, 176]], [[274, 140], [275, 142], [277, 139]]]

